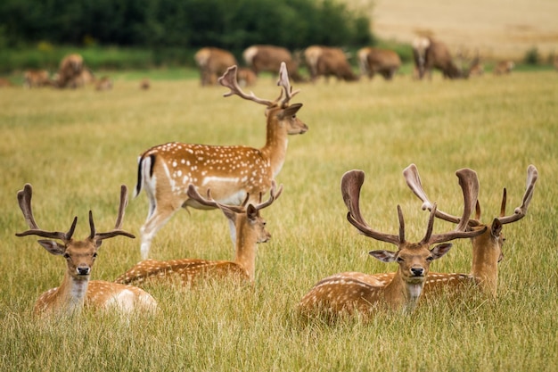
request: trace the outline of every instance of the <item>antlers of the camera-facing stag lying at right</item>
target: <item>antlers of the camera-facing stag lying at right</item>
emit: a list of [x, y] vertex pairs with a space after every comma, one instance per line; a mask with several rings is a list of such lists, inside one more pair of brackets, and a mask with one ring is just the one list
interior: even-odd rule
[[[365, 219], [362, 217], [360, 213], [360, 206], [359, 206], [359, 195], [361, 186], [364, 183], [365, 174], [362, 170], [349, 170], [346, 172], [343, 177], [341, 178], [341, 194], [343, 196], [343, 201], [347, 208], [349, 209], [349, 213], [347, 214], [347, 219], [349, 222], [357, 229], [364, 234], [365, 236], [370, 236], [373, 239], [380, 240], [382, 242], [387, 242], [391, 244], [404, 244], [406, 243], [405, 238], [405, 221], [403, 219], [403, 213], [401, 211], [401, 207], [398, 205], [398, 219], [399, 219], [399, 234], [398, 236], [384, 234], [379, 231], [373, 230], [372, 227], [368, 226], [365, 222]], [[470, 185], [464, 182], [462, 185], [464, 190], [465, 198], [470, 198]], [[429, 202], [430, 203], [430, 202]], [[464, 208], [464, 215], [462, 219], [468, 220], [469, 216], [471, 215], [471, 208], [467, 203], [465, 203]], [[435, 234], [432, 235], [432, 228], [434, 224], [434, 217], [437, 212], [436, 204], [429, 204], [431, 206], [431, 215], [428, 221], [428, 227], [426, 229], [426, 234], [424, 235], [423, 239], [421, 240], [421, 244], [437, 244], [448, 242], [453, 239], [457, 238], [465, 238], [465, 237], [472, 237], [480, 235], [480, 232], [465, 232], [466, 224], [458, 225], [454, 231], [447, 232], [445, 234]], [[485, 228], [486, 230], [486, 228]], [[480, 230], [484, 232], [484, 230]]]

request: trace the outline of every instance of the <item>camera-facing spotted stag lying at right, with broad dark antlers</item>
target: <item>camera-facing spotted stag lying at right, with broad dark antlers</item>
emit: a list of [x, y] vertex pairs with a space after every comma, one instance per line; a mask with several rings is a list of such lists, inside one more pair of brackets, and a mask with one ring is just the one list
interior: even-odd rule
[[[464, 174], [467, 183], [468, 175]], [[343, 201], [349, 209], [347, 219], [364, 234], [382, 242], [398, 246], [397, 252], [373, 251], [370, 254], [384, 262], [398, 262], [398, 271], [388, 281], [380, 279], [363, 281], [357, 276], [334, 275], [319, 281], [299, 304], [303, 314], [325, 313], [337, 315], [342, 312], [370, 312], [377, 305], [387, 305], [392, 309], [413, 310], [423, 291], [424, 281], [429, 272], [432, 260], [437, 260], [446, 254], [452, 244], [446, 242], [457, 239], [478, 236], [484, 231], [465, 232], [466, 222], [459, 224], [454, 231], [434, 235], [434, 215], [436, 206], [432, 208], [428, 221], [426, 234], [419, 243], [410, 243], [405, 237], [405, 222], [403, 213], [398, 206], [399, 234], [390, 235], [373, 230], [360, 214], [359, 197], [360, 188], [364, 182], [365, 174], [362, 170], [350, 170], [341, 178], [341, 194]], [[464, 187], [465, 206], [464, 220], [471, 214], [470, 192]], [[439, 244], [444, 243], [444, 244]], [[439, 244], [430, 249], [432, 244]]]

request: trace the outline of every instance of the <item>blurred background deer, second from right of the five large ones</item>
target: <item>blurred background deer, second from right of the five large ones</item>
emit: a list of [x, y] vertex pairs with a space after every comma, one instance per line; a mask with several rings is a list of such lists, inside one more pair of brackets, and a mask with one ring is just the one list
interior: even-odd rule
[[399, 55], [392, 50], [365, 46], [357, 52], [360, 74], [373, 79], [379, 73], [383, 79], [391, 80], [401, 67]]

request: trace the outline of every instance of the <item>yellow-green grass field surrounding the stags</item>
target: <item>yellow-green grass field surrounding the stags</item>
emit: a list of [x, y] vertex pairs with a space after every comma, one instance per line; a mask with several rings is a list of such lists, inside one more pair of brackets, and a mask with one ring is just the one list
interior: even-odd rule
[[[139, 75], [139, 74], [138, 74]], [[278, 176], [281, 197], [263, 211], [272, 239], [259, 245], [256, 283], [209, 282], [192, 290], [146, 286], [160, 304], [151, 317], [122, 321], [86, 312], [45, 321], [31, 310], [37, 296], [59, 285], [63, 260], [45, 252], [27, 229], [16, 201], [34, 186], [37, 223], [65, 231], [78, 215], [76, 236], [88, 234], [86, 213], [111, 229], [119, 185], [135, 186], [136, 157], [168, 141], [264, 145], [260, 105], [223, 98], [224, 88], [194, 79], [115, 76], [96, 92], [0, 89], [0, 370], [2, 371], [554, 371], [558, 365], [558, 74], [521, 71], [502, 79], [295, 85], [308, 133], [292, 136]], [[256, 95], [274, 98], [272, 79]], [[409, 240], [419, 240], [427, 214], [406, 188], [401, 171], [414, 162], [423, 186], [444, 211], [460, 214], [455, 170], [475, 169], [483, 220], [499, 212], [507, 187], [508, 213], [521, 204], [526, 169], [539, 180], [528, 215], [505, 226], [505, 260], [498, 298], [474, 291], [450, 304], [422, 302], [410, 316], [378, 313], [334, 324], [302, 321], [300, 298], [322, 277], [341, 271], [394, 271], [367, 252], [392, 249], [358, 235], [345, 219], [340, 180], [365, 170], [362, 213], [397, 234], [396, 207]], [[131, 199], [124, 227], [139, 235], [144, 194]], [[437, 221], [436, 232], [454, 226]], [[152, 257], [160, 260], [232, 257], [226, 219], [218, 211], [181, 211], [160, 230]], [[94, 279], [113, 280], [140, 260], [139, 239], [103, 244]], [[468, 272], [467, 241], [431, 269]]]

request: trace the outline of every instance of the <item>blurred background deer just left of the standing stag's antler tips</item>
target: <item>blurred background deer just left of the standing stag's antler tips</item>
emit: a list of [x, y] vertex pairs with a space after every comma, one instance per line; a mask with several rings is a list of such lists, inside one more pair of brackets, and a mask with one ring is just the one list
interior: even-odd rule
[[232, 53], [216, 47], [201, 48], [194, 54], [193, 59], [200, 68], [202, 87], [216, 84], [219, 75], [237, 64]]

